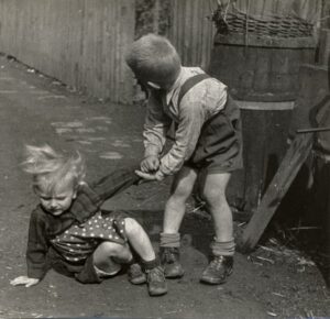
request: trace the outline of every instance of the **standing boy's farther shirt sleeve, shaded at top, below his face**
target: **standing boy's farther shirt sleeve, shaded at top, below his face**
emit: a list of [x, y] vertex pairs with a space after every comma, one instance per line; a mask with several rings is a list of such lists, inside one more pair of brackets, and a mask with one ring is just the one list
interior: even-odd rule
[[143, 131], [145, 157], [158, 156], [162, 153], [170, 122], [170, 118], [164, 113], [160, 98], [151, 94]]

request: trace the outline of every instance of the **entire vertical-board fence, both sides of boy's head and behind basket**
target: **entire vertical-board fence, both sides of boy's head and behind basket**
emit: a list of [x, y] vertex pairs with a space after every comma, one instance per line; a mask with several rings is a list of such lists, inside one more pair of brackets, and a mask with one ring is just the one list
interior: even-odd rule
[[[136, 1], [0, 0], [0, 52], [89, 95], [131, 102], [133, 79], [123, 57], [136, 36]], [[218, 2], [261, 16], [295, 13], [319, 21], [322, 1], [153, 0], [148, 32], [162, 32], [168, 21], [164, 34], [183, 64], [208, 69], [216, 33], [210, 16]]]

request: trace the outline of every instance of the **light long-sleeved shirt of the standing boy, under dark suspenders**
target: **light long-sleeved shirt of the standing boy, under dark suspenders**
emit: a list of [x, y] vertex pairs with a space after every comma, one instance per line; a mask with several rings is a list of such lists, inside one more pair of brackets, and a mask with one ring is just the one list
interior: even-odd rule
[[170, 91], [151, 92], [143, 132], [145, 156], [158, 156], [172, 122], [177, 124], [174, 144], [161, 160], [160, 170], [164, 175], [172, 175], [180, 169], [184, 162], [193, 155], [204, 123], [220, 112], [227, 102], [227, 86], [215, 78], [208, 78], [194, 86], [178, 105], [184, 82], [202, 73], [199, 67], [182, 67]]

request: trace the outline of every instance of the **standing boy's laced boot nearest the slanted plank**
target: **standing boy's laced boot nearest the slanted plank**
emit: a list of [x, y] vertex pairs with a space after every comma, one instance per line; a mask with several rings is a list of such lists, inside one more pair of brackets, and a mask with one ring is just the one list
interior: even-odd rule
[[215, 256], [204, 271], [200, 282], [210, 285], [223, 284], [232, 273], [232, 267], [233, 256]]

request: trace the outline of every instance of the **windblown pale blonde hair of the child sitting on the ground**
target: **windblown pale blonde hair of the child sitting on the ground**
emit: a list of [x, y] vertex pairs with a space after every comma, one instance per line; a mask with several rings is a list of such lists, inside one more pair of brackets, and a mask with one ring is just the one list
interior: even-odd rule
[[25, 152], [22, 167], [32, 174], [34, 188], [42, 186], [45, 191], [52, 193], [58, 185], [72, 185], [76, 189], [85, 178], [86, 167], [79, 153], [65, 156], [48, 145], [26, 145]]

